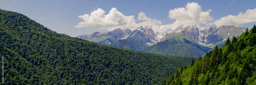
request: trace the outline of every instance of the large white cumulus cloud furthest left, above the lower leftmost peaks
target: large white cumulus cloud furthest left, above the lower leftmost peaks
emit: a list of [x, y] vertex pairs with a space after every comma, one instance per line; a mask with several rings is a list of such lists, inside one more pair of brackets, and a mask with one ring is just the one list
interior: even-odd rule
[[105, 11], [101, 8], [93, 11], [90, 15], [80, 15], [78, 18], [82, 18], [83, 21], [78, 23], [76, 28], [81, 27], [91, 27], [91, 28], [100, 28], [107, 30], [114, 30], [116, 28], [135, 28], [136, 23], [134, 16], [125, 16], [123, 13], [117, 11], [116, 8], [112, 8], [109, 11], [109, 14], [105, 15]]

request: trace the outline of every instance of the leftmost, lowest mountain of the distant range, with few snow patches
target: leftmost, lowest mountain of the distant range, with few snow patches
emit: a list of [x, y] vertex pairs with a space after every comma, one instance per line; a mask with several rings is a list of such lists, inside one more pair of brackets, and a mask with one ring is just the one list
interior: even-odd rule
[[80, 35], [76, 38], [99, 44], [110, 45], [111, 43], [114, 43], [118, 40], [126, 39], [131, 34], [131, 32], [132, 31], [130, 29], [121, 30], [118, 28], [106, 33], [94, 32], [91, 34]]

